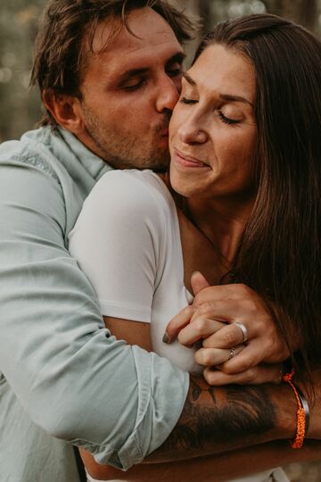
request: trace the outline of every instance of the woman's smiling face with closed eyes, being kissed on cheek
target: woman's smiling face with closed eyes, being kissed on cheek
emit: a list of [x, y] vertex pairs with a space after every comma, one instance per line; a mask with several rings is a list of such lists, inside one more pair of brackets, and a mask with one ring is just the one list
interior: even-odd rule
[[186, 72], [169, 127], [170, 180], [178, 193], [248, 199], [255, 88], [250, 61], [225, 46], [209, 46]]

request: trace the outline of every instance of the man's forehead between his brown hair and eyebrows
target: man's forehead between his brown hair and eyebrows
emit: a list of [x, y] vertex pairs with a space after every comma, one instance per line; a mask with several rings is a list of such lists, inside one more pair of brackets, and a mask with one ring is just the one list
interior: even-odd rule
[[120, 19], [102, 21], [95, 30], [92, 52], [86, 54], [86, 79], [116, 82], [124, 71], [152, 70], [184, 54], [169, 24], [151, 9], [133, 11], [128, 28]]

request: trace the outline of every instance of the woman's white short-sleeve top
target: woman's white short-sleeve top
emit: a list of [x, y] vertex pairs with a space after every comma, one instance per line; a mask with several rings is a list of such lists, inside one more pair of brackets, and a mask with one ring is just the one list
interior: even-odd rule
[[152, 349], [202, 373], [193, 349], [162, 337], [193, 297], [184, 286], [177, 209], [151, 170], [114, 170], [100, 179], [70, 232], [70, 253], [90, 279], [103, 315], [151, 323]]

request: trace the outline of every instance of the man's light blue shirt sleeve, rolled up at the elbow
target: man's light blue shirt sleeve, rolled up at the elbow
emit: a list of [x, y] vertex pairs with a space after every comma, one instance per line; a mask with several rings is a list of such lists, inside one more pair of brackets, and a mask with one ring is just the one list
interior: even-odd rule
[[104, 328], [66, 248], [80, 198], [53, 163], [0, 160], [0, 368], [38, 426], [127, 470], [169, 436], [188, 375]]

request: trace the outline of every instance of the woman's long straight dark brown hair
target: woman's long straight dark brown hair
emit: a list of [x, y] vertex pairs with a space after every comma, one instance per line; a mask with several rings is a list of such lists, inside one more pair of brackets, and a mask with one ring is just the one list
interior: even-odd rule
[[321, 361], [321, 43], [274, 15], [218, 24], [204, 39], [256, 73], [257, 197], [232, 268], [267, 302], [300, 367]]

